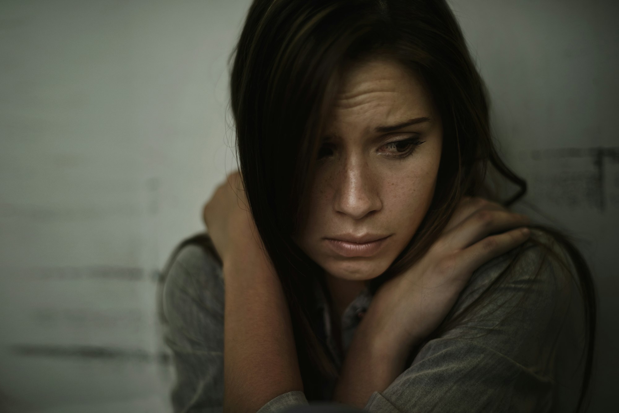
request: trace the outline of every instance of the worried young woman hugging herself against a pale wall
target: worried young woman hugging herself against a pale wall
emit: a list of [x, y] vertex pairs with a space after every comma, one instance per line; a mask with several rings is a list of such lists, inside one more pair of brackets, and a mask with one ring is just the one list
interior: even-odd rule
[[233, 56], [240, 174], [165, 271], [175, 411], [585, 406], [591, 273], [508, 209], [446, 2], [255, 0]]

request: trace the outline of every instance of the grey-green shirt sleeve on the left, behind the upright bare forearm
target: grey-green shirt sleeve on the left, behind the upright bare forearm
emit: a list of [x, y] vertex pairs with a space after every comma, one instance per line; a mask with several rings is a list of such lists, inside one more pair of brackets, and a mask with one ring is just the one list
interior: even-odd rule
[[173, 258], [163, 284], [164, 337], [176, 373], [175, 413], [223, 410], [223, 276], [198, 245]]

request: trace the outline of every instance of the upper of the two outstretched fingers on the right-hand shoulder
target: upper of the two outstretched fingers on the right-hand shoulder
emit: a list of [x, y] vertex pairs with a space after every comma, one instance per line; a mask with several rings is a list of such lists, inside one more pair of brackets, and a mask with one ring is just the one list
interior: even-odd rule
[[508, 210], [478, 210], [446, 234], [448, 245], [453, 249], [465, 249], [470, 245], [498, 232], [527, 226], [529, 217]]

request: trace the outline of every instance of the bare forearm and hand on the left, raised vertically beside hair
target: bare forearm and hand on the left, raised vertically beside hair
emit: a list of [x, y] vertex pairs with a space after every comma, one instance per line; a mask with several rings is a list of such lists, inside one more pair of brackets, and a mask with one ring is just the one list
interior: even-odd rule
[[223, 411], [266, 413], [307, 401], [284, 291], [240, 178], [230, 174], [203, 210], [223, 263]]

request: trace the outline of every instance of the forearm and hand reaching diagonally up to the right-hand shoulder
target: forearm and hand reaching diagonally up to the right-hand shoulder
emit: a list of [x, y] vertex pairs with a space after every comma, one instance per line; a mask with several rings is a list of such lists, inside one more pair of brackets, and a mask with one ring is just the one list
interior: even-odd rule
[[[473, 271], [526, 241], [528, 218], [480, 198], [465, 198], [438, 241], [404, 274], [385, 283], [355, 331], [334, 400], [365, 406], [405, 370], [412, 347], [447, 315]], [[490, 241], [490, 242], [489, 242]]]

